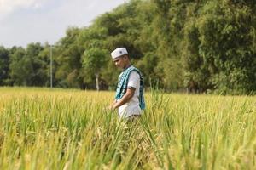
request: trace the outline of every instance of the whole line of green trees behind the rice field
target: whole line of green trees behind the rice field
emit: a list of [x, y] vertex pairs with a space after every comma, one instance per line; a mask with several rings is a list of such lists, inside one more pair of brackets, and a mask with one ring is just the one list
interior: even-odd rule
[[[128, 49], [145, 86], [218, 94], [256, 92], [254, 0], [131, 0], [52, 47], [53, 84], [114, 89], [110, 53]], [[0, 47], [0, 85], [49, 87], [50, 45]]]

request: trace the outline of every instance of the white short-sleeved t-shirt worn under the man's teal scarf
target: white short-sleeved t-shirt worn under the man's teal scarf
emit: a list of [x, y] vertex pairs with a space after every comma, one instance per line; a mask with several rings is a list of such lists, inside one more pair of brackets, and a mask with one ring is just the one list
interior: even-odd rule
[[[119, 79], [122, 73], [119, 75]], [[119, 106], [119, 117], [129, 117], [131, 115], [140, 115], [142, 110], [139, 106], [139, 93], [140, 93], [140, 76], [137, 71], [131, 71], [127, 87], [135, 88], [134, 95], [128, 103]]]

